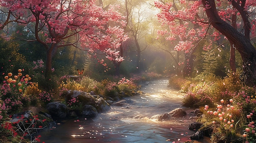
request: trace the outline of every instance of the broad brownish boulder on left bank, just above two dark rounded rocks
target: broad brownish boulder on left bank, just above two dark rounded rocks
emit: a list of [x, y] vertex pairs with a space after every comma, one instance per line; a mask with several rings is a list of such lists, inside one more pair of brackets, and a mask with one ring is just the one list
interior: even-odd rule
[[65, 95], [65, 101], [68, 103], [71, 99], [76, 98], [80, 103], [84, 105], [95, 106], [95, 98], [89, 93], [78, 91], [78, 90], [68, 90]]

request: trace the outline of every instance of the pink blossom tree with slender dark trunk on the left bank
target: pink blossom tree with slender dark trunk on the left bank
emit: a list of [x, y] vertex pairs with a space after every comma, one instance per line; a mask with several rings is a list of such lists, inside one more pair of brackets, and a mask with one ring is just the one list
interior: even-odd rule
[[[120, 42], [127, 36], [121, 26], [106, 26], [109, 22], [125, 25], [117, 6], [108, 11], [95, 4], [95, 0], [1, 0], [1, 6], [20, 19], [34, 24], [34, 39], [44, 45], [47, 53], [45, 77], [50, 79], [52, 57], [57, 49], [75, 46], [90, 55], [102, 51], [110, 60], [122, 61]], [[101, 60], [103, 64], [103, 60]]]

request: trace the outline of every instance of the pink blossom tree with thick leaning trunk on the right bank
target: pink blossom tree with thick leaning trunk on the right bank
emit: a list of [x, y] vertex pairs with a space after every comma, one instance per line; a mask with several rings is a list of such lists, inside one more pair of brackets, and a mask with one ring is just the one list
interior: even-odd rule
[[[173, 7], [179, 6], [180, 10]], [[177, 2], [155, 2], [161, 10], [157, 14], [162, 24], [167, 24], [169, 31], [159, 31], [159, 35], [169, 34], [166, 40], [179, 40], [177, 51], [189, 53], [200, 42], [204, 50], [219, 47], [220, 36], [224, 35], [243, 59], [241, 79], [248, 85], [256, 81], [256, 50], [250, 38], [256, 35], [254, 0], [180, 0]], [[231, 16], [236, 15], [236, 20]], [[183, 24], [180, 24], [180, 22]], [[232, 26], [237, 22], [236, 26]], [[215, 28], [215, 29], [212, 29]]]

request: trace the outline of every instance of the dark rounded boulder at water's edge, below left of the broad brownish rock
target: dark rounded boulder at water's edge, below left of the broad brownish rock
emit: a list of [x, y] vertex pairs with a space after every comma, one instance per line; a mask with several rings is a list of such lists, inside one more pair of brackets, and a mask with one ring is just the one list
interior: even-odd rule
[[52, 118], [63, 119], [67, 117], [69, 110], [67, 106], [63, 103], [52, 102], [48, 103], [46, 106], [47, 111], [52, 116]]

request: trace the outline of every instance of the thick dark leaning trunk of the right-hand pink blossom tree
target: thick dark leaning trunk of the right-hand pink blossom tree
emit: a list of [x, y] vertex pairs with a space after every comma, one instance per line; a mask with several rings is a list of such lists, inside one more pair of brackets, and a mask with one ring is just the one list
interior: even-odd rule
[[[225, 35], [240, 53], [243, 59], [241, 79], [248, 86], [253, 86], [256, 81], [256, 49], [249, 39], [219, 17], [214, 0], [202, 0], [202, 4], [206, 8], [206, 14], [212, 26]], [[208, 4], [209, 6], [206, 7]]]

